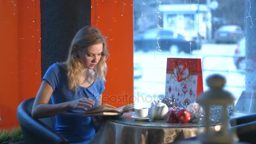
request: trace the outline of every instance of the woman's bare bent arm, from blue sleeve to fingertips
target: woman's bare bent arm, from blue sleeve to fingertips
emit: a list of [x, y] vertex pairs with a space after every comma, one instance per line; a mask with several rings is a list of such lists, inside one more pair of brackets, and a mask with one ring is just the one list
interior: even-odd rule
[[69, 109], [87, 110], [85, 106], [92, 107], [94, 105], [93, 100], [86, 98], [77, 99], [75, 101], [66, 101], [59, 104], [48, 104], [52, 93], [53, 88], [51, 85], [46, 80], [43, 80], [32, 108], [32, 117], [51, 117], [66, 112]]

